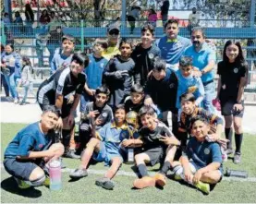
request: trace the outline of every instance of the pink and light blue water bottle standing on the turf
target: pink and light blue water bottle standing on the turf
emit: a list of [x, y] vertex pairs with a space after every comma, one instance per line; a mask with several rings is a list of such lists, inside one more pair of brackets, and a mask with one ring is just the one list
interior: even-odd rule
[[50, 172], [50, 189], [60, 190], [61, 189], [61, 162], [54, 160], [49, 164]]

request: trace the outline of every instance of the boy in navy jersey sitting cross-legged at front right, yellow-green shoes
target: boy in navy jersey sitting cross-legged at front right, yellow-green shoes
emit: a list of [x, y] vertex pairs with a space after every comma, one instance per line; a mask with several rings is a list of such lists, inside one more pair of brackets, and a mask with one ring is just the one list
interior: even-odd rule
[[209, 194], [210, 185], [218, 183], [223, 176], [222, 153], [218, 143], [208, 142], [209, 123], [201, 116], [192, 120], [191, 133], [180, 162], [173, 162], [175, 178], [183, 179]]

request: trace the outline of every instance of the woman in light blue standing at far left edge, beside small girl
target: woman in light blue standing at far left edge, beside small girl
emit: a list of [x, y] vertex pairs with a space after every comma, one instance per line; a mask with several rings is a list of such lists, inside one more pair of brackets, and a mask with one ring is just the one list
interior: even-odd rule
[[12, 95], [12, 100], [18, 103], [17, 78], [20, 78], [20, 56], [14, 51], [12, 44], [6, 44], [5, 54], [2, 57], [2, 68], [6, 69], [6, 82]]

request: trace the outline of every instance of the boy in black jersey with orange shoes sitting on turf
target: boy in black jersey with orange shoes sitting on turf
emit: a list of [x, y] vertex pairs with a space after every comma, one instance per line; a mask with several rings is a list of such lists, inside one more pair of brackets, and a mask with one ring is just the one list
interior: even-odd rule
[[[136, 179], [133, 182], [133, 186], [139, 189], [155, 185], [165, 186], [165, 175], [170, 168], [171, 162], [173, 162], [177, 150], [176, 146], [179, 145], [179, 141], [168, 127], [164, 123], [155, 120], [154, 114], [152, 107], [143, 106], [139, 112], [142, 124], [142, 128], [139, 131], [140, 138], [128, 139], [123, 142], [125, 147], [130, 144], [142, 145], [144, 150], [135, 156], [135, 162], [141, 178]], [[146, 163], [150, 163], [153, 166], [159, 162], [164, 162], [160, 172], [155, 174], [154, 177], [149, 176]]]

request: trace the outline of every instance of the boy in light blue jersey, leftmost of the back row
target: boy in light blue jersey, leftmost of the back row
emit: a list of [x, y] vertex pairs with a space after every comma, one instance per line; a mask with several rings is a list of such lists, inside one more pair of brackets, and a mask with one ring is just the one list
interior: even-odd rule
[[57, 69], [69, 66], [74, 48], [75, 38], [71, 35], [64, 35], [61, 39], [61, 49], [55, 51], [55, 55], [51, 61], [51, 73], [55, 73]]

